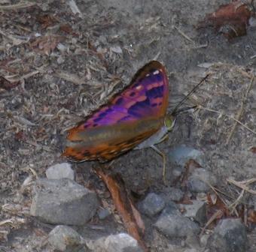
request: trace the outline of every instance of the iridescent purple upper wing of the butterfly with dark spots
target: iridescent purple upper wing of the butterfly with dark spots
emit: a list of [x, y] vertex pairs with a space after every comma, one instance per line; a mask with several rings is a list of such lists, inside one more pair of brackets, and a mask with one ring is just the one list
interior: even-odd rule
[[130, 85], [69, 130], [69, 140], [81, 140], [78, 132], [93, 127], [130, 123], [147, 117], [162, 118], [168, 106], [168, 80], [160, 62], [152, 61], [140, 69]]

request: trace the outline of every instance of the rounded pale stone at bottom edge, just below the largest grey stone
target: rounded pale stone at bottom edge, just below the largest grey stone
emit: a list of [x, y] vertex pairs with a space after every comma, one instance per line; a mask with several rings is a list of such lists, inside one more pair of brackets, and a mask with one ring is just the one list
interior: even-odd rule
[[69, 226], [54, 227], [48, 235], [48, 241], [58, 251], [74, 250], [84, 244], [84, 239]]

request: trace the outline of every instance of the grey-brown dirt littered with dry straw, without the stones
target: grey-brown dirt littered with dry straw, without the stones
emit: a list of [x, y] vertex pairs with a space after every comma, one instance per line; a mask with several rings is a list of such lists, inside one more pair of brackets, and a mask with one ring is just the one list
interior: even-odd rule
[[[34, 179], [32, 172], [44, 176], [48, 166], [63, 161], [66, 130], [154, 58], [169, 76], [169, 111], [211, 74], [190, 101], [202, 108], [179, 115], [159, 148], [166, 154], [181, 144], [200, 149], [203, 166], [218, 177], [218, 187], [239, 196], [240, 189], [228, 185], [227, 178], [256, 175], [256, 27], [231, 41], [213, 29], [197, 29], [207, 13], [229, 1], [79, 0], [81, 13], [76, 15], [68, 1], [36, 2], [22, 6], [5, 0], [1, 4], [11, 7], [0, 7], [0, 76], [5, 77], [0, 81], [0, 221], [5, 221], [0, 251], [9, 246], [35, 251], [42, 243], [52, 227], [29, 217], [31, 195], [23, 189], [24, 180]], [[92, 165], [73, 167], [78, 181], [100, 190], [104, 186]], [[142, 194], [164, 190], [161, 165], [161, 158], [145, 149], [118, 157], [112, 169]], [[167, 168], [172, 185], [174, 167], [168, 162]], [[252, 195], [245, 194], [244, 201], [254, 204]], [[114, 219], [100, 225], [105, 233], [122, 229]], [[93, 236], [87, 228], [83, 232]], [[256, 247], [253, 233], [248, 230], [250, 251]], [[148, 229], [146, 242], [152, 236]], [[153, 242], [161, 251], [167, 239], [159, 236]]]

